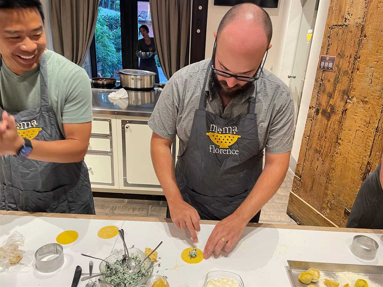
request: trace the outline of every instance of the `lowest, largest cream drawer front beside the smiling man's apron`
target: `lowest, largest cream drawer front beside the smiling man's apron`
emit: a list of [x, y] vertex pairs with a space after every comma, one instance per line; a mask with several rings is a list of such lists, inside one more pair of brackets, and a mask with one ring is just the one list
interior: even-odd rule
[[89, 179], [93, 184], [114, 185], [113, 154], [88, 152], [85, 155], [85, 163], [89, 171]]

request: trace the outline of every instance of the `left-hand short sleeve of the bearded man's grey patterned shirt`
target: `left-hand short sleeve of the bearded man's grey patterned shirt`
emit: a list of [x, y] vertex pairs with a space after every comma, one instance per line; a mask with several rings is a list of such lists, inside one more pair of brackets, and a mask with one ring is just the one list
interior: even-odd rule
[[177, 115], [180, 107], [180, 96], [177, 82], [172, 76], [155, 105], [148, 121], [149, 127], [165, 139], [174, 139], [177, 134]]

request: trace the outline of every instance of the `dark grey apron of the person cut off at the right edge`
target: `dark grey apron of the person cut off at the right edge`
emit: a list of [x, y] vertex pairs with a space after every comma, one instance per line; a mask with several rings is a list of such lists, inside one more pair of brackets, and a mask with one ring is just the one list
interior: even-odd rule
[[346, 227], [383, 229], [383, 189], [379, 179], [380, 169], [381, 165], [378, 165], [360, 186]]

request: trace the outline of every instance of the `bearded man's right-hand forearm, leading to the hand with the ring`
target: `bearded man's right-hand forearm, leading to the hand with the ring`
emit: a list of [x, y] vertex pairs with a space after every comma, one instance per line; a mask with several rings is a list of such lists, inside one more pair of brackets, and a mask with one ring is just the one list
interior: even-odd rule
[[254, 188], [234, 214], [248, 223], [273, 197], [285, 179], [288, 164], [273, 162], [265, 164]]

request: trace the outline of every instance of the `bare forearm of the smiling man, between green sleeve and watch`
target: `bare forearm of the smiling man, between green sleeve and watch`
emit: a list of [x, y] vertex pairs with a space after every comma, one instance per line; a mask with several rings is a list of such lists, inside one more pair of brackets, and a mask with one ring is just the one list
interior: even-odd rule
[[33, 150], [28, 158], [32, 160], [56, 163], [72, 163], [82, 161], [88, 146], [79, 140], [65, 139], [46, 142], [31, 140]]

